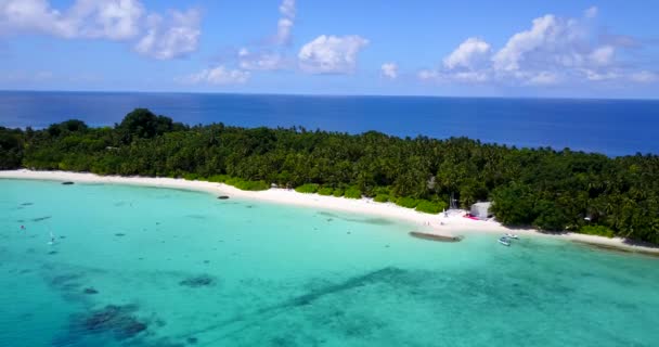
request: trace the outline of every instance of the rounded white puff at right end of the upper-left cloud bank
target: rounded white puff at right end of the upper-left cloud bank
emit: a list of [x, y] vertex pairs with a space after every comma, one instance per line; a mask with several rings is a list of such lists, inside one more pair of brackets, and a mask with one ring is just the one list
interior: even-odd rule
[[202, 30], [197, 10], [170, 11], [167, 21], [158, 14], [147, 18], [146, 35], [135, 44], [140, 54], [157, 60], [185, 56], [197, 49]]

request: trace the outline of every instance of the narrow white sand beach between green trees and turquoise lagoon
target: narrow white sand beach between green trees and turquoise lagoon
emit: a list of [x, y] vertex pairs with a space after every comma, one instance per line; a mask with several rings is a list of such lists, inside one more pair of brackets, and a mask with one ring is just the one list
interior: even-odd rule
[[596, 248], [620, 249], [624, 252], [659, 255], [659, 247], [628, 243], [624, 239], [608, 239], [580, 233], [546, 234], [534, 229], [511, 229], [494, 220], [471, 220], [463, 218], [464, 210], [451, 210], [449, 216], [443, 214], [430, 215], [392, 203], [375, 203], [372, 198], [352, 200], [346, 197], [323, 196], [318, 194], [298, 193], [294, 190], [271, 188], [267, 191], [242, 191], [237, 188], [216, 182], [189, 181], [173, 178], [99, 176], [95, 174], [68, 171], [33, 171], [28, 169], [0, 170], [0, 179], [24, 179], [42, 181], [73, 181], [76, 183], [111, 183], [167, 189], [182, 189], [206, 192], [214, 195], [229, 195], [248, 200], [285, 204], [303, 207], [316, 207], [359, 215], [378, 216], [395, 220], [404, 220], [417, 226], [417, 230], [439, 236], [455, 237], [467, 233], [515, 233], [522, 236], [544, 236], [563, 239], [595, 246]]

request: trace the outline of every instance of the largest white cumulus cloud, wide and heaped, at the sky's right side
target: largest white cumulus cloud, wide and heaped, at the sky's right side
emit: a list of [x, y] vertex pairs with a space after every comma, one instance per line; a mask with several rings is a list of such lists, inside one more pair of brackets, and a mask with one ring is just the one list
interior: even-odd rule
[[[596, 8], [585, 11], [593, 17]], [[421, 70], [421, 80], [440, 82], [496, 82], [513, 86], [551, 86], [569, 81], [654, 81], [652, 73], [639, 72], [625, 49], [637, 48], [622, 36], [596, 36], [584, 18], [546, 14], [528, 29], [509, 37], [499, 50], [482, 39], [468, 38], [437, 68]], [[607, 39], [603, 39], [607, 38]], [[611, 39], [615, 38], [615, 39]]]

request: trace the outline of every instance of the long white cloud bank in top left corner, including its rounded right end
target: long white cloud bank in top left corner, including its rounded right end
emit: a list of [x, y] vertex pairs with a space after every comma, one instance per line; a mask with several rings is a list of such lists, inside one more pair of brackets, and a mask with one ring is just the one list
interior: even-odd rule
[[[39, 34], [65, 39], [129, 41], [156, 59], [173, 59], [197, 48], [199, 14], [147, 13], [139, 0], [75, 0], [66, 10], [48, 0], [0, 0], [0, 36]], [[146, 23], [144, 25], [144, 23]]]

